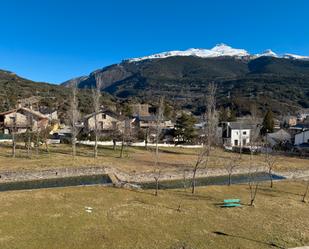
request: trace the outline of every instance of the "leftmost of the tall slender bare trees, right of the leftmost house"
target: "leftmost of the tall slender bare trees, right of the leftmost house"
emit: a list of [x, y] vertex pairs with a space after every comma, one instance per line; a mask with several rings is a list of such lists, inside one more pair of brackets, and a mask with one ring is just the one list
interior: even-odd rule
[[78, 99], [77, 99], [77, 89], [76, 84], [72, 84], [72, 95], [70, 101], [70, 109], [69, 109], [69, 118], [71, 125], [71, 133], [72, 133], [72, 156], [76, 157], [76, 140], [78, 135], [78, 127], [77, 122], [80, 119], [80, 113], [78, 110]]

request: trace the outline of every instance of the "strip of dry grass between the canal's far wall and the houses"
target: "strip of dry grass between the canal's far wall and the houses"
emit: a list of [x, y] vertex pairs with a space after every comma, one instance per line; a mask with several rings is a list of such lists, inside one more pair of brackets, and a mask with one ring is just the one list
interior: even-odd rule
[[[31, 158], [28, 158], [25, 149], [17, 150], [17, 157], [11, 157], [11, 148], [0, 145], [0, 170], [40, 170], [50, 168], [65, 167], [88, 167], [88, 166], [109, 166], [125, 172], [149, 172], [154, 169], [155, 153], [152, 150], [144, 148], [129, 147], [125, 156], [120, 158], [120, 149], [113, 150], [109, 147], [100, 147], [99, 156], [93, 158], [93, 149], [87, 146], [78, 146], [78, 156], [73, 160], [71, 156], [71, 147], [69, 145], [50, 146], [50, 153], [40, 150], [37, 156], [32, 151]], [[174, 171], [190, 168], [196, 161], [197, 149], [184, 148], [160, 148], [159, 167], [163, 171]], [[239, 158], [237, 153], [225, 152], [222, 149], [212, 151], [209, 162], [209, 168], [224, 168], [230, 160]], [[239, 167], [248, 166], [249, 155], [243, 154], [237, 164]], [[257, 165], [265, 165], [263, 155], [254, 156]], [[277, 156], [274, 170], [293, 170], [308, 169], [309, 160], [297, 157]]]

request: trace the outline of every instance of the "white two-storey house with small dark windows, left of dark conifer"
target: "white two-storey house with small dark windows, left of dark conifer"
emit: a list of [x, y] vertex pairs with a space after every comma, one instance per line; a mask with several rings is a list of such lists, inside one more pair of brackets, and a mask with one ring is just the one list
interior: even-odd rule
[[245, 147], [251, 142], [251, 133], [257, 125], [242, 122], [224, 122], [222, 125], [223, 144], [232, 147]]

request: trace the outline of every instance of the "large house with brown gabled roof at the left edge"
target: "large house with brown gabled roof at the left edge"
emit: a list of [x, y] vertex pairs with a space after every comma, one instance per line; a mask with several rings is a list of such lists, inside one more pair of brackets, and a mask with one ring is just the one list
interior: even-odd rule
[[4, 134], [12, 132], [24, 133], [28, 129], [37, 131], [49, 124], [49, 118], [30, 108], [19, 107], [0, 113], [0, 131]]

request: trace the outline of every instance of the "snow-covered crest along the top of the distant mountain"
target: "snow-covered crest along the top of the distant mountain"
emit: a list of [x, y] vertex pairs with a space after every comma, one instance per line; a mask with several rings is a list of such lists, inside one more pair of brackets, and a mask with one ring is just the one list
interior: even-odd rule
[[258, 57], [266, 56], [266, 57], [276, 57], [276, 58], [286, 58], [286, 59], [295, 59], [295, 60], [309, 60], [309, 56], [301, 56], [294, 54], [283, 54], [278, 55], [272, 50], [268, 49], [261, 54], [250, 54], [248, 51], [244, 49], [232, 48], [226, 44], [218, 44], [212, 49], [199, 49], [199, 48], [190, 48], [188, 50], [174, 50], [167, 51], [158, 54], [153, 54], [149, 56], [132, 58], [129, 59], [129, 62], [138, 62], [143, 60], [151, 60], [151, 59], [163, 59], [172, 56], [196, 56], [201, 58], [212, 58], [212, 57], [222, 57], [222, 56], [231, 56], [236, 58], [248, 57], [250, 59], [255, 59]]

